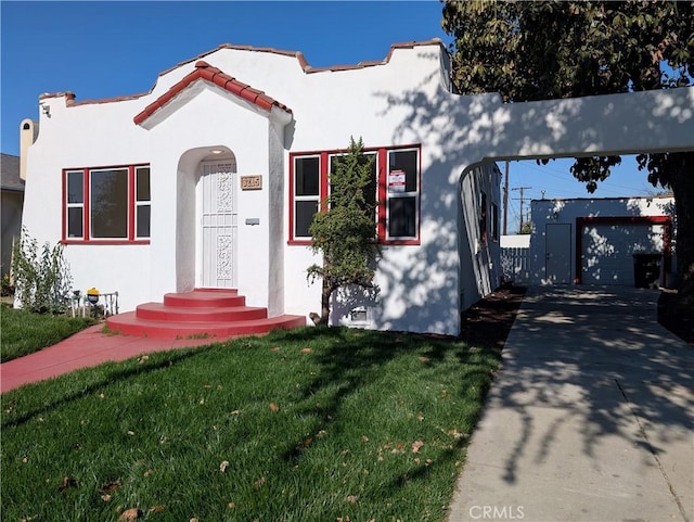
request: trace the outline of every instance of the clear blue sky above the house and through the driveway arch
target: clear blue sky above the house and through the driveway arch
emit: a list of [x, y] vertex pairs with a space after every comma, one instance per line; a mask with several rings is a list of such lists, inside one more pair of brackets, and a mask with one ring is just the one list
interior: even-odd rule
[[[1, 152], [18, 154], [20, 122], [38, 118], [43, 92], [77, 100], [149, 91], [157, 74], [221, 43], [301, 51], [313, 66], [382, 60], [391, 43], [450, 38], [441, 3], [425, 1], [0, 2]], [[510, 187], [525, 198], [586, 198], [569, 161], [512, 162]], [[500, 165], [503, 170], [503, 165]], [[595, 196], [654, 192], [631, 160]], [[509, 228], [519, 215], [511, 192]]]

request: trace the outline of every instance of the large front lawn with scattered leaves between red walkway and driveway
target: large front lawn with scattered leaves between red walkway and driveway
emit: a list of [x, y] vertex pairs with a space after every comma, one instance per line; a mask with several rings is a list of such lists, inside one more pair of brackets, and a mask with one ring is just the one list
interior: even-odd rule
[[442, 521], [499, 358], [307, 328], [14, 390], [2, 518]]

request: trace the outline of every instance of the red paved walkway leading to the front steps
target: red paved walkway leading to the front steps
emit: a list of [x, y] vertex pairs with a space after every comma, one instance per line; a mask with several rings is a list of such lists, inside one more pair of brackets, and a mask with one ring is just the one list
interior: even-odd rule
[[150, 339], [106, 334], [101, 332], [102, 329], [103, 324], [95, 324], [40, 352], [1, 364], [0, 393], [106, 361], [126, 360], [165, 349], [202, 346], [229, 339]]

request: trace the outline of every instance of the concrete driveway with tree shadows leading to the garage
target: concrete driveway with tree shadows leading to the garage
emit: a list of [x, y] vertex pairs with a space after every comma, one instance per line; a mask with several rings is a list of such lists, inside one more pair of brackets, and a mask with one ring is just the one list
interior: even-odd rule
[[528, 290], [450, 522], [694, 521], [694, 348], [657, 298]]

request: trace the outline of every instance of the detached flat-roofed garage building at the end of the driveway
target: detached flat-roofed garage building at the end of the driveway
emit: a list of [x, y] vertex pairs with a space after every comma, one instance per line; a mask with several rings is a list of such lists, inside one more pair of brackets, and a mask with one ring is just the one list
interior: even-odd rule
[[534, 200], [531, 212], [531, 284], [664, 285], [676, 271], [671, 196]]

